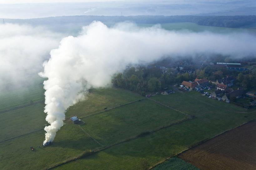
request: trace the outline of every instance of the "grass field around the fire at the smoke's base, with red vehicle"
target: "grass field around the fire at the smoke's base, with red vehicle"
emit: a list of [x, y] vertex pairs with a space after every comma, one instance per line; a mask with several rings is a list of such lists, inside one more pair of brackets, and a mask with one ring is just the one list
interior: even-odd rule
[[[54, 143], [38, 147], [44, 140], [44, 131], [24, 135], [0, 143], [0, 169], [35, 170], [80, 154], [99, 145], [73, 124], [58, 131]], [[30, 150], [33, 146], [35, 151]]]

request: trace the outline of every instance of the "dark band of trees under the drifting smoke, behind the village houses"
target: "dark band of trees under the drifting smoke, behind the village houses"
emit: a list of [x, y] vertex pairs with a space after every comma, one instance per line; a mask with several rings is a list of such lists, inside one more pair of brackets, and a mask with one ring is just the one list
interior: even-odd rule
[[112, 84], [114, 87], [120, 87], [141, 95], [146, 92], [154, 92], [162, 90], [168, 85], [174, 83], [181, 83], [184, 81], [195, 80], [195, 78], [207, 78], [211, 81], [216, 81], [226, 77], [226, 75], [233, 75], [236, 80], [235, 87], [243, 87], [245, 89], [256, 89], [256, 69], [246, 70], [243, 72], [237, 70], [228, 70], [216, 66], [201, 66], [199, 69], [193, 71], [192, 74], [181, 73], [175, 74], [168, 69], [163, 74], [162, 70], [156, 67], [131, 67], [123, 73], [118, 73], [113, 76]]

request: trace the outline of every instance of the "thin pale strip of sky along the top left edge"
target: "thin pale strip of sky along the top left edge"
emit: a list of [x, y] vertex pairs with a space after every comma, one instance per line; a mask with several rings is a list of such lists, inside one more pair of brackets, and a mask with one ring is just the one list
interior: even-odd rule
[[[0, 3], [56, 3], [56, 2], [107, 2], [107, 1], [125, 1], [125, 0], [2, 0]], [[129, 0], [134, 1], [134, 0]], [[137, 0], [138, 1], [138, 0]], [[142, 0], [139, 0], [142, 1]]]

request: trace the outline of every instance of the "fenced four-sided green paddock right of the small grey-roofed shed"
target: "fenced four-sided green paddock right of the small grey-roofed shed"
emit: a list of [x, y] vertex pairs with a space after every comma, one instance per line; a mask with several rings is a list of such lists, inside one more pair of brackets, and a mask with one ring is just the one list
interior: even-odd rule
[[113, 144], [173, 124], [186, 117], [146, 99], [85, 117], [82, 128], [99, 143]]

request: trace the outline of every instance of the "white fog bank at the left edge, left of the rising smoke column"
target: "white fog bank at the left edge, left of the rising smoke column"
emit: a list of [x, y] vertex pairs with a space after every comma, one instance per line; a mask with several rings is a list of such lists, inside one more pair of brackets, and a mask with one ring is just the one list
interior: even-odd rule
[[43, 61], [60, 40], [60, 34], [40, 27], [0, 24], [0, 90], [29, 82], [29, 75], [43, 70]]

